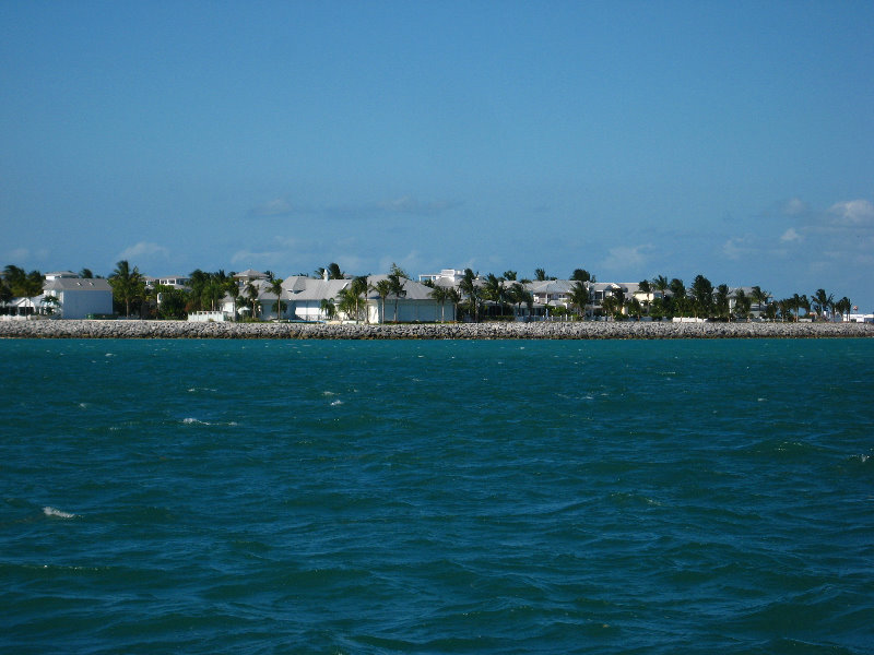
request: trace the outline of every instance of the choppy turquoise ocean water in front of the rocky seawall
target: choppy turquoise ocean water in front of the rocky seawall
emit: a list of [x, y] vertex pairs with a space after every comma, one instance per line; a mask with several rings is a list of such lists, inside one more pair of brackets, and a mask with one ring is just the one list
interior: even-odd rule
[[874, 652], [874, 340], [0, 361], [3, 653]]

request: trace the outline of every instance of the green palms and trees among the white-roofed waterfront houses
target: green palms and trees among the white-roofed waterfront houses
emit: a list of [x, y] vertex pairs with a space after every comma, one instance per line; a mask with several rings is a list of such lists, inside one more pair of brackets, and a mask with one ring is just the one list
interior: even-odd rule
[[[259, 297], [267, 291], [275, 297], [273, 309], [277, 315], [285, 310], [281, 298], [282, 279], [271, 271], [265, 273], [264, 285], [248, 282], [240, 288], [234, 278], [234, 272], [223, 270], [205, 272], [197, 269], [189, 275], [187, 288], [165, 285], [146, 286], [144, 276], [137, 266], [131, 267], [127, 260], [116, 264], [107, 282], [113, 288], [116, 310], [126, 317], [185, 319], [189, 313], [201, 310], [217, 310], [226, 296], [234, 305], [234, 315], [243, 305], [249, 313], [249, 320], [258, 319], [260, 311]], [[305, 276], [306, 274], [300, 273]], [[82, 269], [80, 277], [94, 277], [88, 269]], [[392, 264], [385, 279], [375, 285], [368, 284], [368, 275], [349, 275], [335, 262], [326, 267], [316, 269], [312, 277], [327, 279], [350, 279], [336, 298], [322, 301], [322, 310], [328, 318], [339, 313], [346, 317], [366, 320], [365, 296], [376, 293], [381, 307], [381, 315], [386, 317], [386, 303], [393, 300], [393, 320], [398, 320], [398, 303], [405, 297], [404, 281], [410, 279], [408, 273]], [[465, 269], [457, 286], [439, 286], [426, 282], [432, 287], [430, 297], [441, 307], [450, 305], [454, 308], [457, 319], [472, 321], [511, 320], [521, 312], [522, 306], [533, 309], [534, 297], [528, 288], [532, 282], [557, 279], [546, 274], [544, 269], [535, 269], [533, 279], [519, 278], [516, 271], [505, 271], [500, 275], [488, 273], [481, 276], [471, 269]], [[616, 320], [627, 318], [653, 320], [674, 317], [695, 317], [711, 320], [743, 320], [749, 317], [755, 303], [759, 315], [769, 320], [798, 321], [801, 311], [805, 315], [825, 318], [827, 314], [849, 315], [852, 303], [846, 296], [836, 299], [834, 294], [825, 289], [816, 289], [811, 296], [793, 294], [792, 296], [772, 300], [768, 291], [753, 286], [749, 294], [743, 289], [731, 291], [728, 285], [713, 285], [704, 275], [697, 275], [689, 287], [682, 279], [669, 279], [664, 275], [656, 275], [651, 279], [638, 283], [639, 295], [628, 298], [621, 287], [607, 290], [600, 302], [595, 302], [591, 285], [595, 276], [584, 269], [575, 269], [568, 278], [574, 282], [567, 298], [567, 307], [550, 307], [552, 315], [570, 314], [581, 320], [593, 313], [612, 317]], [[33, 298], [43, 293], [45, 276], [39, 271], [26, 272], [15, 265], [7, 265], [0, 275], [0, 302], [12, 298]], [[264, 288], [265, 287], [265, 288]], [[161, 300], [158, 302], [158, 299]], [[732, 303], [731, 300], [734, 300]], [[513, 311], [515, 308], [515, 311]]]

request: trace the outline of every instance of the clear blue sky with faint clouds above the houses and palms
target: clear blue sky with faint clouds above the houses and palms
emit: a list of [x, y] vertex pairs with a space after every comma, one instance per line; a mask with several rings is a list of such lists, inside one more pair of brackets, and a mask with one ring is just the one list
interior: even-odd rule
[[874, 311], [872, 2], [0, 3], [0, 265], [697, 274]]

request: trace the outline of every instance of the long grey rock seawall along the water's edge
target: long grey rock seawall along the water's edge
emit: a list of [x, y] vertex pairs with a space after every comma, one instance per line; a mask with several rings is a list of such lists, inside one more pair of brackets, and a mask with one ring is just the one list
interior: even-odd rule
[[340, 325], [187, 321], [0, 321], [0, 338], [649, 340], [872, 337], [872, 323], [535, 322]]

